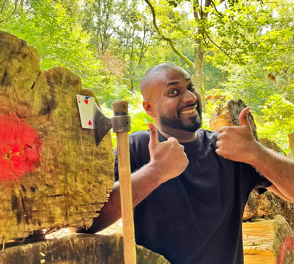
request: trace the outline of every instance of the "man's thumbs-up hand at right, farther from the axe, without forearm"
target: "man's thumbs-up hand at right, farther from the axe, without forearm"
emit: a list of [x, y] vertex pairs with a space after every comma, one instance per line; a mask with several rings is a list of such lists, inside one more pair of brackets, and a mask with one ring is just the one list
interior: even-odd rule
[[250, 107], [243, 109], [239, 115], [240, 126], [224, 126], [218, 132], [216, 153], [226, 159], [250, 163], [254, 159], [258, 143], [252, 135], [247, 119]]

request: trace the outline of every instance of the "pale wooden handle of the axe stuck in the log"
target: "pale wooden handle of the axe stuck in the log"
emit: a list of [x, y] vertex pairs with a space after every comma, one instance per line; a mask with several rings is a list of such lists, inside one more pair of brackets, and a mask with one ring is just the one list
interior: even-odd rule
[[[128, 103], [116, 101], [112, 104], [114, 113], [128, 113]], [[123, 256], [125, 264], [136, 264], [136, 244], [133, 218], [130, 148], [128, 132], [116, 133], [119, 189], [121, 196], [121, 217], [123, 219]]]

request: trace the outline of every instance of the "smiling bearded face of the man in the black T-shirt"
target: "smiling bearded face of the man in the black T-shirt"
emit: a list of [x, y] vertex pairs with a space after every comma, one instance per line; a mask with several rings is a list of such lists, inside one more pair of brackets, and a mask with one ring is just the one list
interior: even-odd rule
[[155, 111], [162, 126], [195, 132], [202, 125], [200, 94], [191, 76], [182, 69], [168, 69], [152, 87]]

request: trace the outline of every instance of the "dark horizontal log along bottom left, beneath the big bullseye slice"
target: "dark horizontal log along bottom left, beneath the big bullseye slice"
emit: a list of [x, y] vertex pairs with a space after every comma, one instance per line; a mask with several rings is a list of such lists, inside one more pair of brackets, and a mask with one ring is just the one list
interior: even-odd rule
[[[169, 264], [142, 246], [136, 246], [138, 264]], [[0, 264], [124, 264], [121, 235], [73, 234], [4, 248]]]

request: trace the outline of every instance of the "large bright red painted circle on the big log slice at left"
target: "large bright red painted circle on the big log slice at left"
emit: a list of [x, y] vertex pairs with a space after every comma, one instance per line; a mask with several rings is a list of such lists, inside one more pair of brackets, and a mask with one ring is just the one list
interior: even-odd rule
[[0, 114], [0, 180], [24, 177], [41, 165], [41, 141], [28, 123]]

